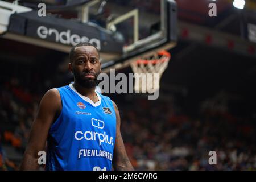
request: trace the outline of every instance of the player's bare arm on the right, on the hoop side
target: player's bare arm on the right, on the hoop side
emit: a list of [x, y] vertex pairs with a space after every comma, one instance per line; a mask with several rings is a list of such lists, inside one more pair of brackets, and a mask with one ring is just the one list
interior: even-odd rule
[[115, 146], [114, 146], [114, 155], [113, 155], [113, 167], [115, 170], [118, 170], [118, 171], [134, 170], [126, 154], [125, 145], [123, 144], [123, 139], [120, 132], [121, 119], [120, 119], [118, 107], [114, 102], [113, 102], [113, 105], [115, 108], [115, 115], [117, 117], [117, 129], [116, 129], [116, 135], [115, 135]]

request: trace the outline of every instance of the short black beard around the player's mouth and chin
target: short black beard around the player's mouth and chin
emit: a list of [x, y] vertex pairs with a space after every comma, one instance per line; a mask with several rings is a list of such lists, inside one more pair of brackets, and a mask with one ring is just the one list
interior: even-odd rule
[[74, 74], [75, 80], [80, 86], [90, 89], [90, 88], [93, 88], [96, 85], [98, 85], [97, 77], [98, 77], [98, 75], [100, 75], [100, 72], [98, 72], [96, 74], [92, 73], [95, 77], [94, 79], [83, 78], [86, 73], [91, 73], [91, 72], [82, 72], [81, 74], [79, 74], [73, 69], [73, 74]]

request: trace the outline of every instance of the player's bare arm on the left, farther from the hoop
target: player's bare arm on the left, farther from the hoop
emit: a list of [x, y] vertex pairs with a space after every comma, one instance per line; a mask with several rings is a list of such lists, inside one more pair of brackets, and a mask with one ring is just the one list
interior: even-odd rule
[[60, 110], [59, 91], [57, 89], [48, 90], [40, 102], [38, 113], [32, 123], [30, 138], [20, 166], [21, 170], [39, 169], [38, 152], [44, 150], [49, 128]]

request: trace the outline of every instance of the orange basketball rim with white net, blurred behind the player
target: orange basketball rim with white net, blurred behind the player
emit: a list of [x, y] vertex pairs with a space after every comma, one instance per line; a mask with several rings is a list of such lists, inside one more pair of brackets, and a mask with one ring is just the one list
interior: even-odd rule
[[166, 70], [170, 59], [171, 54], [169, 52], [160, 51], [131, 62], [130, 65], [135, 78], [135, 93], [154, 93], [159, 90], [160, 78]]

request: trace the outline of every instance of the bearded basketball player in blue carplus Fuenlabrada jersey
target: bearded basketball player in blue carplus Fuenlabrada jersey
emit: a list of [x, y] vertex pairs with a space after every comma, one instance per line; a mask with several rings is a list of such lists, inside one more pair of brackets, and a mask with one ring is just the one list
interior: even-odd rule
[[[117, 105], [95, 91], [100, 55], [90, 43], [69, 53], [73, 84], [48, 90], [31, 127], [20, 169], [39, 168], [47, 140], [47, 170], [133, 170], [120, 133]], [[113, 163], [112, 163], [113, 161]]]

